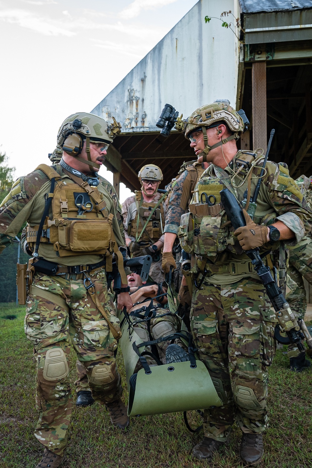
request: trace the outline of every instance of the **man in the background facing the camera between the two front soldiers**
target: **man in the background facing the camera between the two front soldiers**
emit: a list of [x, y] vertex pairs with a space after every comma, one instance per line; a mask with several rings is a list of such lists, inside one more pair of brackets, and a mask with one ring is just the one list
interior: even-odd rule
[[163, 180], [163, 173], [158, 166], [148, 164], [141, 168], [138, 177], [142, 190], [136, 190], [135, 195], [122, 204], [126, 244], [132, 257], [152, 256], [149, 275], [153, 281], [161, 283], [164, 281], [161, 249], [166, 194], [157, 192], [157, 189]]

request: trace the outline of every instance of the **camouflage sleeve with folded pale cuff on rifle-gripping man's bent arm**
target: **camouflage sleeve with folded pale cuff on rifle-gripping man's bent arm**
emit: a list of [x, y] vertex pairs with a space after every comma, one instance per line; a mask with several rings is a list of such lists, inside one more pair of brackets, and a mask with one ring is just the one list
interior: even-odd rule
[[269, 202], [278, 215], [276, 219], [289, 227], [299, 242], [311, 230], [312, 212], [289, 175], [286, 164], [269, 161], [266, 169], [263, 182], [269, 193]]

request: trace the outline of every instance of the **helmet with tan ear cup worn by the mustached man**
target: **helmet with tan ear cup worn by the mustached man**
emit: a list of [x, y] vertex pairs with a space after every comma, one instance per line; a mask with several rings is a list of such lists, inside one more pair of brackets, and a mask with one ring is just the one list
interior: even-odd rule
[[[93, 168], [99, 169], [99, 164], [91, 161], [90, 141], [103, 143], [107, 149], [108, 145], [121, 132], [121, 124], [113, 118], [113, 124], [108, 124], [104, 118], [87, 112], [77, 112], [67, 117], [60, 126], [57, 134], [57, 146], [60, 146], [65, 153], [75, 156], [78, 161], [88, 164], [90, 171]], [[84, 141], [86, 140], [86, 153], [88, 161], [79, 157]]]

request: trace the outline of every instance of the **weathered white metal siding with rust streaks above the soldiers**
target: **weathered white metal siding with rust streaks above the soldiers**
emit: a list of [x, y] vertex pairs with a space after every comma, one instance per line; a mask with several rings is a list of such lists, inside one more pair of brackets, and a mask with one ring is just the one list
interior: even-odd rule
[[185, 117], [218, 98], [235, 106], [238, 41], [217, 19], [204, 20], [235, 9], [236, 0], [199, 1], [92, 112], [113, 115], [128, 133], [159, 131], [166, 102]]

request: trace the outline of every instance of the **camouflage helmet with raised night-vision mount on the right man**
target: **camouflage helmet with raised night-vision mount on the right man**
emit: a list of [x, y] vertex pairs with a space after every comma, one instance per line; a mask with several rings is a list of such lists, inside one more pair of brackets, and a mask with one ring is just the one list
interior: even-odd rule
[[[233, 135], [222, 139], [213, 146], [208, 146], [206, 128], [217, 127], [218, 124], [222, 122], [228, 125]], [[186, 139], [189, 138], [190, 133], [196, 130], [201, 130], [203, 132], [205, 149], [199, 156], [203, 156], [203, 162], [205, 162], [206, 156], [211, 149], [224, 145], [230, 140], [238, 140], [244, 131], [244, 123], [241, 115], [230, 106], [230, 102], [227, 99], [220, 99], [214, 101], [212, 104], [199, 107], [199, 109], [196, 109], [186, 120], [177, 122], [176, 128], [178, 131], [184, 133]]]

